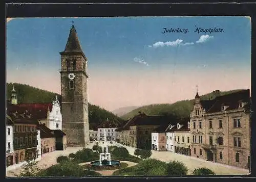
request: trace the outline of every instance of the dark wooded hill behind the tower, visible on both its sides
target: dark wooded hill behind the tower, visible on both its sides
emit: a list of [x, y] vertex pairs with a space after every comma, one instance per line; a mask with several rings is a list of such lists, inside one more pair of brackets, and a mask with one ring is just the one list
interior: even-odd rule
[[[17, 92], [17, 101], [18, 103], [42, 103], [42, 102], [52, 102], [52, 100], [58, 96], [58, 99], [61, 103], [61, 95], [53, 92], [49, 92], [46, 90], [41, 90], [35, 87], [31, 87], [25, 84], [18, 84], [18, 83], [7, 83], [6, 85], [6, 96], [7, 99], [11, 97], [11, 91], [15, 87]], [[121, 118], [116, 116], [115, 114], [106, 111], [99, 106], [91, 105], [89, 103], [89, 122], [90, 122], [90, 129], [96, 128], [102, 121], [106, 119], [109, 120], [117, 120], [120, 123], [123, 122]]]

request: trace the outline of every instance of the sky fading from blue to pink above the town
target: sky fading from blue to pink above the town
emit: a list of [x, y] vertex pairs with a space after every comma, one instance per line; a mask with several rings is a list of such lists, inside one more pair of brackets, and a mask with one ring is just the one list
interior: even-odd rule
[[251, 88], [251, 20], [242, 16], [12, 18], [7, 82], [60, 94], [72, 21], [88, 59], [89, 102], [106, 110], [193, 99], [196, 86], [199, 95]]

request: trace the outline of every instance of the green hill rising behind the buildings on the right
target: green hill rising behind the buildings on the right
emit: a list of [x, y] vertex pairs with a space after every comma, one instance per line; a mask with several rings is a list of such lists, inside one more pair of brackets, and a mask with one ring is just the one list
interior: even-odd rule
[[[232, 92], [237, 92], [241, 90], [230, 90], [221, 92], [221, 95], [226, 95]], [[214, 93], [208, 93], [200, 96], [201, 99], [207, 100], [209, 98], [215, 98]], [[182, 100], [175, 103], [162, 103], [155, 105], [148, 105], [137, 108], [123, 116], [122, 119], [126, 120], [132, 118], [138, 114], [139, 111], [144, 112], [147, 115], [166, 115], [169, 119], [178, 119], [181, 122], [187, 122], [189, 120], [190, 111], [193, 107], [194, 99]]]

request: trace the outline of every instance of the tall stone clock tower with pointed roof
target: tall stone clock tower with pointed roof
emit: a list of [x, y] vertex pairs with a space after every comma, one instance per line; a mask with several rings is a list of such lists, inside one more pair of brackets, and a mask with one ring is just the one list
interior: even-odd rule
[[67, 146], [86, 146], [89, 142], [87, 58], [72, 25], [61, 55], [62, 131], [67, 134]]

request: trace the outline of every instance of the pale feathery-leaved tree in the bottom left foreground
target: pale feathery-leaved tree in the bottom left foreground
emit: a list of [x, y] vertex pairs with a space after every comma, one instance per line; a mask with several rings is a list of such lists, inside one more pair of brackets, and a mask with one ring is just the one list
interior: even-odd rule
[[38, 161], [29, 161], [22, 166], [19, 177], [33, 177], [37, 176], [41, 172], [41, 169], [37, 167]]

